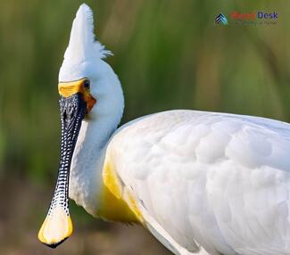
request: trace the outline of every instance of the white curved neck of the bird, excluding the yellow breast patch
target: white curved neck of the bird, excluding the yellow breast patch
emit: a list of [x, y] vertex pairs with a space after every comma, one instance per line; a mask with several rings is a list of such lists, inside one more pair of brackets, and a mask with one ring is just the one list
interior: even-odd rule
[[70, 165], [70, 198], [94, 216], [103, 204], [107, 144], [120, 123], [124, 107], [120, 81], [108, 66], [103, 77], [91, 86], [97, 103], [82, 121]]

